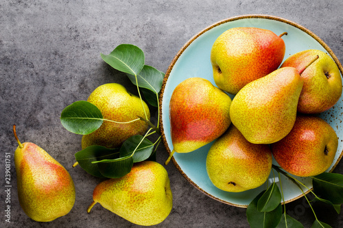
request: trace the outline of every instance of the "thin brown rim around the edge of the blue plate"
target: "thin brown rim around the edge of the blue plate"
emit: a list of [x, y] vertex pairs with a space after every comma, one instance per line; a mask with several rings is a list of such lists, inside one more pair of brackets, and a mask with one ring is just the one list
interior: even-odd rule
[[[308, 34], [309, 36], [311, 36], [312, 38], [314, 38], [317, 42], [320, 43], [320, 45], [322, 45], [322, 47], [331, 55], [331, 58], [333, 58], [333, 60], [335, 61], [335, 64], [337, 64], [338, 68], [340, 69], [340, 73], [341, 75], [343, 75], [343, 67], [342, 64], [340, 63], [340, 61], [338, 60], [337, 56], [333, 53], [333, 51], [330, 49], [330, 47], [322, 40], [320, 39], [316, 34], [314, 34], [312, 31], [310, 31], [309, 29], [303, 27], [302, 25], [299, 25], [298, 23], [295, 23], [294, 21], [290, 21], [288, 19], [285, 18], [281, 18], [279, 16], [272, 16], [272, 15], [268, 15], [268, 14], [243, 14], [240, 16], [232, 16], [229, 18], [225, 18], [222, 21], [217, 21], [216, 23], [213, 23], [212, 25], [209, 25], [208, 27], [202, 29], [201, 31], [199, 31], [196, 35], [194, 35], [193, 37], [191, 37], [186, 43], [185, 45], [183, 45], [181, 47], [181, 49], [178, 51], [178, 53], [176, 53], [175, 57], [173, 58], [173, 60], [171, 60], [171, 63], [169, 64], [167, 71], [165, 73], [165, 77], [163, 79], [163, 83], [161, 86], [161, 92], [160, 92], [160, 96], [158, 98], [158, 112], [160, 117], [159, 120], [159, 126], [161, 129], [161, 138], [164, 144], [165, 149], [167, 150], [167, 153], [170, 155], [171, 151], [169, 149], [169, 147], [167, 146], [167, 138], [165, 137], [165, 130], [163, 127], [163, 118], [162, 118], [162, 102], [163, 102], [163, 94], [165, 92], [165, 85], [167, 84], [167, 80], [169, 78], [169, 75], [171, 73], [171, 70], [174, 68], [174, 65], [176, 64], [176, 62], [178, 61], [178, 58], [180, 58], [180, 55], [182, 55], [182, 53], [187, 49], [187, 47], [189, 47], [189, 45], [191, 45], [191, 43], [196, 40], [199, 36], [201, 36], [202, 34], [204, 34], [206, 31], [209, 31], [210, 29], [213, 29], [214, 27], [217, 27], [219, 25], [222, 25], [224, 23], [228, 23], [230, 21], [237, 21], [240, 19], [246, 19], [246, 18], [264, 18], [264, 19], [268, 19], [268, 20], [274, 20], [274, 21], [281, 21], [283, 23], [287, 23], [289, 25], [292, 25], [302, 31], [304, 31], [306, 34]], [[340, 162], [341, 158], [343, 157], [343, 151], [341, 151], [340, 156], [338, 157], [338, 160], [335, 162], [335, 164], [332, 166], [332, 168], [329, 170], [329, 173], [331, 173], [333, 171], [333, 169], [338, 165], [338, 163]], [[218, 197], [213, 196], [212, 194], [210, 194], [209, 192], [206, 192], [205, 190], [203, 190], [202, 188], [200, 188], [194, 181], [192, 181], [187, 174], [180, 168], [180, 166], [178, 165], [178, 162], [176, 162], [176, 160], [174, 159], [174, 157], [171, 157], [171, 161], [173, 162], [174, 166], [176, 166], [176, 169], [180, 172], [180, 174], [187, 180], [189, 181], [189, 183], [191, 183], [191, 185], [193, 185], [194, 187], [196, 187], [196, 189], [200, 190], [200, 192], [202, 192], [203, 194], [206, 194], [206, 196], [215, 199], [216, 201], [220, 201], [221, 203], [225, 203], [228, 205], [233, 205], [235, 207], [248, 207], [248, 205], [239, 205], [239, 204], [235, 204], [235, 203], [230, 203], [228, 201], [224, 201], [223, 199], [220, 199]], [[311, 188], [312, 189], [312, 188]], [[310, 189], [310, 190], [311, 190]], [[310, 190], [307, 190], [305, 192], [305, 194], [309, 193]], [[294, 197], [292, 199], [289, 199], [283, 203], [290, 203], [292, 201], [296, 201], [297, 199], [300, 199], [301, 197], [303, 197], [303, 194], [298, 195], [298, 197]]]

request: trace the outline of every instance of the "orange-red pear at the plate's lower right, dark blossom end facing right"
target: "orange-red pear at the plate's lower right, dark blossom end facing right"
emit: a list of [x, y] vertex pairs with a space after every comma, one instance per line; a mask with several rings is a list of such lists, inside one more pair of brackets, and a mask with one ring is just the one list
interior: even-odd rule
[[335, 158], [338, 137], [317, 116], [298, 116], [289, 134], [271, 144], [276, 162], [288, 173], [309, 177], [326, 171]]

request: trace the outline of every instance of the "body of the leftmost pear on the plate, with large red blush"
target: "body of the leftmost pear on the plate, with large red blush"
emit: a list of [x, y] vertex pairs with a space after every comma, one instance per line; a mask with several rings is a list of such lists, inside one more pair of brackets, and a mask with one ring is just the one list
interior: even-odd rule
[[220, 137], [230, 125], [231, 99], [210, 81], [185, 79], [169, 102], [171, 141], [178, 153], [188, 153]]

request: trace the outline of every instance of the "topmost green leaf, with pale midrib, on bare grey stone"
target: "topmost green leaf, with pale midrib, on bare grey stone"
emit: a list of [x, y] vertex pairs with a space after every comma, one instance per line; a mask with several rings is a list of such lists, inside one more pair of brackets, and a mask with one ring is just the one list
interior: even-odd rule
[[134, 45], [119, 45], [110, 54], [100, 53], [100, 55], [116, 70], [131, 75], [138, 75], [145, 62], [143, 51]]

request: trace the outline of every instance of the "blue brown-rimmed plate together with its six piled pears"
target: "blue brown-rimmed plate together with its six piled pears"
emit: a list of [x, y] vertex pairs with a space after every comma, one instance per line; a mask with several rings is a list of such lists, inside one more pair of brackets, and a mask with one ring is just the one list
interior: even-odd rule
[[166, 164], [237, 207], [273, 185], [282, 203], [302, 197], [342, 157], [342, 72], [316, 34], [284, 18], [235, 16], [206, 27], [165, 74]]

